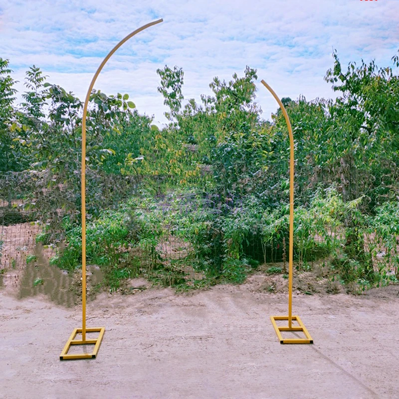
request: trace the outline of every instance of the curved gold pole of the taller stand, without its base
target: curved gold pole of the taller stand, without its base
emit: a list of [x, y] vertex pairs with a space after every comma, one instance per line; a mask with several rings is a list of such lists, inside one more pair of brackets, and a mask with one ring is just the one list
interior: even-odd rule
[[122, 39], [104, 58], [101, 65], [98, 67], [96, 73], [91, 80], [89, 89], [87, 90], [86, 99], [83, 106], [83, 116], [82, 116], [82, 341], [86, 341], [86, 116], [87, 116], [87, 106], [89, 104], [91, 91], [93, 90], [94, 83], [103, 69], [105, 63], [109, 60], [111, 55], [123, 44], [125, 41], [129, 40], [135, 34], [141, 32], [142, 30], [156, 25], [162, 22], [163, 19], [158, 19], [154, 22], [147, 23], [142, 27], [136, 29], [132, 33], [128, 34], [124, 39]]

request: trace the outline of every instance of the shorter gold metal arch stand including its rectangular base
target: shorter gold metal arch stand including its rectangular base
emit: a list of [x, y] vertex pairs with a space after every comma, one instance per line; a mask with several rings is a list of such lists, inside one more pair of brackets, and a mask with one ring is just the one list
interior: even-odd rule
[[[290, 246], [288, 275], [288, 316], [270, 316], [270, 319], [274, 330], [276, 331], [277, 337], [280, 340], [280, 344], [313, 344], [313, 339], [302, 323], [302, 320], [299, 318], [299, 316], [292, 316], [292, 258], [294, 255], [294, 136], [292, 134], [291, 122], [288, 118], [288, 114], [283, 103], [277, 97], [277, 94], [273, 91], [273, 89], [264, 80], [261, 82], [266, 89], [270, 91], [283, 111], [290, 136]], [[288, 326], [277, 325], [277, 320], [288, 320]], [[292, 321], [295, 321], [297, 325], [293, 326]], [[303, 332], [306, 338], [284, 339], [281, 335], [282, 331]]]

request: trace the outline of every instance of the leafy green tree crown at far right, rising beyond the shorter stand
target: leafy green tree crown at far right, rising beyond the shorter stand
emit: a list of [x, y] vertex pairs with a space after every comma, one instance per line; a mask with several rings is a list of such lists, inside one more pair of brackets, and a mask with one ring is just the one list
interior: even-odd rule
[[[370, 184], [360, 187], [359, 181], [368, 181], [368, 175], [378, 173], [387, 160], [396, 163], [399, 77], [391, 67], [379, 68], [375, 61], [362, 61], [360, 66], [351, 62], [343, 72], [335, 51], [333, 57], [334, 68], [327, 71], [325, 80], [342, 94], [330, 106], [335, 128], [327, 139], [334, 143], [334, 156], [340, 160], [344, 200], [353, 200], [371, 188]], [[393, 60], [398, 68], [398, 57]]]

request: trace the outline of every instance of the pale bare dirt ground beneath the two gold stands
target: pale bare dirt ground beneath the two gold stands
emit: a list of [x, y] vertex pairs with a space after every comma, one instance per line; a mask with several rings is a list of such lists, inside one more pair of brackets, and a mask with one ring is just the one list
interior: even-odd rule
[[80, 306], [0, 290], [0, 398], [399, 398], [399, 286], [293, 298], [313, 345], [281, 345], [269, 315], [287, 295], [264, 276], [194, 294], [101, 293], [88, 327], [97, 359], [60, 361]]

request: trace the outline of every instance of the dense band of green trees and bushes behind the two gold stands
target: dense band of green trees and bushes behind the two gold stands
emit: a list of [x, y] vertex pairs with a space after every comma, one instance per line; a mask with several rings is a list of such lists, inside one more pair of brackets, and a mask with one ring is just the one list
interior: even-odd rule
[[[399, 56], [392, 67], [372, 61], [346, 71], [336, 52], [333, 59], [325, 80], [336, 100], [283, 99], [296, 151], [294, 261], [298, 271], [324, 262], [331, 279], [366, 289], [399, 278]], [[180, 289], [239, 283], [275, 262], [283, 265], [267, 273], [285, 278], [281, 110], [271, 122], [260, 118], [249, 67], [228, 82], [215, 77], [200, 102], [184, 100], [181, 68], [157, 72], [169, 107], [162, 130], [127, 94], [90, 97], [88, 262], [111, 289], [137, 276]], [[82, 103], [33, 66], [15, 106], [11, 73], [0, 59], [0, 173], [19, 179], [18, 196], [43, 225], [36, 240], [65, 242], [52, 263], [73, 270], [81, 264]]]

